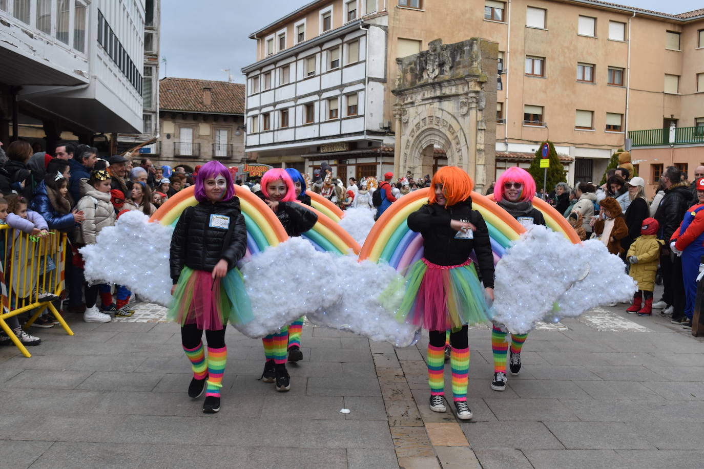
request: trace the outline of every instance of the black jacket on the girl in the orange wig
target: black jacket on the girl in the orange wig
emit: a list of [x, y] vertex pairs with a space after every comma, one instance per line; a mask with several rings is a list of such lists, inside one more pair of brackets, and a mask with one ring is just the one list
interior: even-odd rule
[[[450, 228], [451, 220], [465, 220], [477, 226], [474, 239], [455, 238], [457, 230]], [[474, 250], [484, 287], [494, 288], [494, 255], [491, 253], [489, 230], [482, 215], [472, 210], [471, 198], [447, 208], [437, 204], [423, 205], [408, 216], [408, 228], [420, 231], [424, 257], [433, 264], [463, 264]]]

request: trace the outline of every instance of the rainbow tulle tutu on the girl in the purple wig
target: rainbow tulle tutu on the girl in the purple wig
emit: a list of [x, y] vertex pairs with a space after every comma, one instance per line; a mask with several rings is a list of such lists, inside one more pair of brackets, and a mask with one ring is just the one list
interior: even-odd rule
[[246, 324], [254, 316], [239, 269], [230, 269], [220, 281], [212, 272], [184, 266], [166, 314], [169, 321], [196, 324], [201, 330], [220, 330], [230, 321]]

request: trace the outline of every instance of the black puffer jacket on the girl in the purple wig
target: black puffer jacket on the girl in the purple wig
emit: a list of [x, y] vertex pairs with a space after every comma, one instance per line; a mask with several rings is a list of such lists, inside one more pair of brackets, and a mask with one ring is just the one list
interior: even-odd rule
[[171, 279], [177, 283], [183, 266], [213, 271], [220, 259], [232, 269], [247, 249], [244, 215], [239, 198], [225, 202], [201, 202], [181, 214], [171, 236]]

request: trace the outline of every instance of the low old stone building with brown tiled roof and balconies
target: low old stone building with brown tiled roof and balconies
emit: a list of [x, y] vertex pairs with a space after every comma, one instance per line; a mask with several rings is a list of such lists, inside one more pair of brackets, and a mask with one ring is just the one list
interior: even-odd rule
[[152, 161], [190, 169], [210, 160], [244, 158], [244, 85], [189, 78], [159, 83], [159, 139]]

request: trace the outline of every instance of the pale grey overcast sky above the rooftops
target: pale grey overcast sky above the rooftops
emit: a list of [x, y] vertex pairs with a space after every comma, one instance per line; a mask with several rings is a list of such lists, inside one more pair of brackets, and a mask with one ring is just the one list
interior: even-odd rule
[[[389, 0], [391, 1], [391, 0]], [[426, 0], [439, 3], [443, 0]], [[254, 62], [256, 41], [249, 34], [310, 3], [310, 0], [163, 0], [160, 77], [227, 80], [243, 83], [240, 70]], [[702, 7], [700, 0], [612, 0], [662, 13]]]

